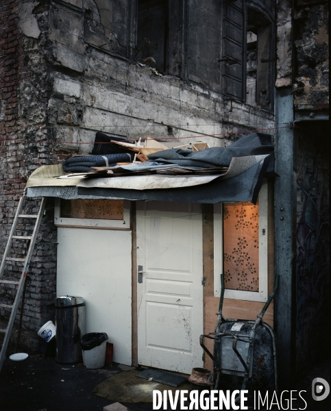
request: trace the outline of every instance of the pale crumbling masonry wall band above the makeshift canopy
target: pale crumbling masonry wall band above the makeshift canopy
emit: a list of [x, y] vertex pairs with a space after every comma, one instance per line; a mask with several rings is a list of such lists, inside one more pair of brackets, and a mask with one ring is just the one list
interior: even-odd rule
[[[83, 1], [83, 9], [93, 10], [97, 21], [97, 9], [91, 1]], [[84, 10], [52, 3], [49, 13], [55, 71], [48, 118], [52, 125], [83, 127], [55, 129], [58, 147], [88, 153], [96, 131], [128, 139], [146, 135], [173, 138], [167, 143], [169, 147], [190, 142], [186, 137], [201, 135], [200, 139], [213, 147], [224, 145], [224, 136], [204, 134], [273, 127], [273, 114], [269, 112], [224, 101], [219, 92], [180, 77], [155, 75], [149, 66], [127, 60], [125, 55], [118, 58], [112, 51], [108, 53], [109, 44], [102, 51], [98, 38], [90, 34], [86, 37], [90, 28], [86, 27]], [[117, 18], [114, 6], [112, 21]], [[126, 49], [128, 36], [118, 39]]]

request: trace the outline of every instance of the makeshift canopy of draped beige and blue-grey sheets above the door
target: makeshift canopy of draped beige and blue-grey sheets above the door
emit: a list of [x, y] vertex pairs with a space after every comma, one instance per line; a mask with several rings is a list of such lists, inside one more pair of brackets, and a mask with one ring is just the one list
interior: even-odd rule
[[[120, 177], [66, 177], [60, 164], [42, 166], [29, 177], [27, 195], [64, 199], [256, 203], [263, 178], [273, 167], [273, 145], [271, 136], [254, 133], [229, 147], [213, 147], [195, 152], [169, 149], [151, 154], [148, 158], [153, 160], [150, 162], [149, 174], [134, 171], [128, 175], [122, 173]], [[143, 164], [147, 166], [147, 163]], [[204, 175], [162, 175], [152, 173], [159, 168], [155, 164], [200, 167], [204, 170], [228, 166], [228, 171], [223, 174], [208, 174], [207, 171]]]

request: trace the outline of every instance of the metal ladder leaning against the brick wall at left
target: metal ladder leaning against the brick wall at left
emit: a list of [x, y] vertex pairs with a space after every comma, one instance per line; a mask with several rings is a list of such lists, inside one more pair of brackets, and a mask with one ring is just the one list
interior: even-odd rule
[[[34, 245], [36, 243], [36, 237], [37, 233], [40, 227], [41, 219], [42, 219], [42, 214], [45, 210], [45, 197], [42, 197], [42, 200], [40, 202], [39, 206], [39, 211], [38, 214], [21, 214], [23, 210], [23, 206], [25, 203], [26, 196], [23, 195], [19, 201], [19, 206], [17, 207], [16, 214], [14, 216], [14, 221], [12, 223], [12, 229], [10, 230], [10, 234], [8, 237], [8, 242], [5, 247], [5, 252], [3, 253], [3, 259], [1, 262], [0, 266], [0, 286], [3, 284], [5, 286], [6, 284], [14, 284], [18, 286], [16, 290], [16, 296], [14, 299], [14, 303], [12, 306], [8, 304], [3, 304], [0, 303], [0, 307], [2, 308], [10, 308], [12, 312], [10, 313], [10, 319], [8, 321], [8, 326], [5, 329], [0, 328], [1, 333], [5, 333], [5, 337], [3, 339], [3, 344], [1, 347], [0, 351], [0, 371], [2, 368], [3, 360], [5, 360], [5, 351], [7, 350], [8, 343], [10, 340], [10, 335], [12, 334], [12, 327], [14, 325], [15, 317], [16, 317], [16, 311], [19, 308], [19, 303], [21, 301], [21, 296], [25, 284], [25, 279], [27, 277], [27, 271], [29, 270], [29, 263], [32, 257], [32, 253], [34, 251]], [[31, 236], [16, 236], [14, 235], [16, 233], [17, 226], [19, 224], [19, 219], [34, 219], [34, 228]], [[21, 228], [20, 228], [21, 231]], [[10, 256], [10, 251], [12, 249], [12, 240], [27, 240], [29, 243], [27, 243], [27, 254], [25, 258], [12, 258]], [[3, 278], [3, 274], [5, 273], [5, 266], [8, 261], [17, 261], [17, 262], [23, 262], [23, 271], [21, 274], [21, 279], [19, 281], [10, 281]], [[23, 310], [23, 307], [21, 308]]]

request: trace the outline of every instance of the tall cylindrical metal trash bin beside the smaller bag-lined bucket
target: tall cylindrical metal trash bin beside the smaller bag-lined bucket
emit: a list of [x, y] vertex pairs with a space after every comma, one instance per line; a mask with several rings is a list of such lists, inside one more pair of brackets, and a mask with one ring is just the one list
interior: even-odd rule
[[56, 361], [73, 364], [82, 360], [80, 338], [85, 334], [85, 303], [82, 297], [56, 297]]

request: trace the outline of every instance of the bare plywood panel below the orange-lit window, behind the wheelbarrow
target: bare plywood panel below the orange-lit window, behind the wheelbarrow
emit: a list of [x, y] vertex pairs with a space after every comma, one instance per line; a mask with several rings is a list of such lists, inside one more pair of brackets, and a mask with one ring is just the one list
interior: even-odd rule
[[[223, 316], [225, 319], [242, 319], [242, 320], [256, 320], [256, 316], [262, 310], [264, 303], [258, 301], [243, 301], [235, 299], [224, 299]], [[205, 327], [204, 334], [214, 332], [217, 323], [216, 313], [219, 310], [218, 297], [206, 297], [204, 299], [205, 310]], [[273, 303], [270, 304], [265, 316], [263, 317], [265, 323], [273, 327]], [[213, 350], [212, 340], [205, 339], [206, 347], [210, 352]], [[206, 355], [204, 366], [207, 369], [212, 369], [212, 360]]]

